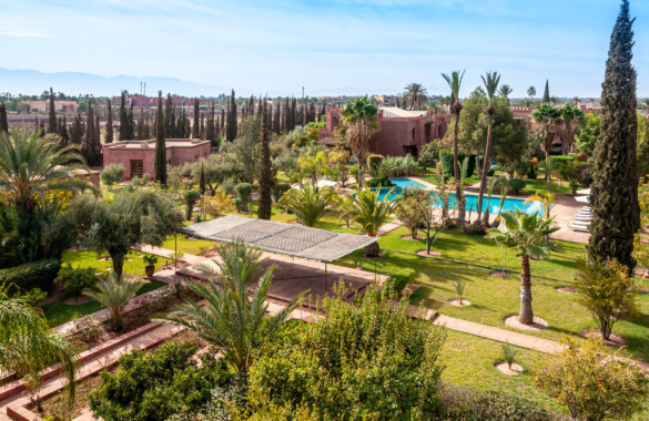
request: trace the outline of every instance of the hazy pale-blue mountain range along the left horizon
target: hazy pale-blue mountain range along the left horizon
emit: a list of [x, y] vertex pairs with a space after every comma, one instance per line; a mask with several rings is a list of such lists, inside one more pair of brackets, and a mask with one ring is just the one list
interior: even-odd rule
[[[97, 96], [111, 96], [119, 95], [122, 90], [140, 93], [140, 82], [146, 83], [146, 95], [149, 96], [154, 95], [159, 90], [185, 96], [219, 96], [222, 93], [230, 94], [231, 91], [226, 86], [204, 85], [175, 78], [135, 78], [122, 74], [102, 76], [79, 72], [43, 73], [36, 70], [0, 68], [0, 92], [11, 92], [12, 94], [39, 95], [52, 86], [54, 92], [63, 92], [68, 95], [89, 93]], [[237, 95], [251, 94], [245, 90], [236, 91], [236, 93]]]

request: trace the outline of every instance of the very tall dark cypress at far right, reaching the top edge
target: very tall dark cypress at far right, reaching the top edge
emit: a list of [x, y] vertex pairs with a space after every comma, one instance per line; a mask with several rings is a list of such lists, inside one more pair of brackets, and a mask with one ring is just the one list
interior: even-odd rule
[[592, 222], [588, 243], [591, 260], [616, 258], [630, 274], [636, 268], [633, 236], [640, 227], [636, 70], [631, 64], [633, 21], [629, 1], [622, 0], [601, 84], [601, 134], [594, 151]]

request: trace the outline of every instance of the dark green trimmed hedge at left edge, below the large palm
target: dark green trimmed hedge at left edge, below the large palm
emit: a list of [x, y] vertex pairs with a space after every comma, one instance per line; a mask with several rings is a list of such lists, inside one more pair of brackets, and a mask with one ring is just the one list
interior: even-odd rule
[[61, 261], [59, 259], [32, 261], [0, 269], [0, 285], [11, 286], [11, 290], [16, 290], [11, 284], [16, 285], [18, 291], [14, 294], [26, 294], [34, 288], [50, 291], [60, 269]]

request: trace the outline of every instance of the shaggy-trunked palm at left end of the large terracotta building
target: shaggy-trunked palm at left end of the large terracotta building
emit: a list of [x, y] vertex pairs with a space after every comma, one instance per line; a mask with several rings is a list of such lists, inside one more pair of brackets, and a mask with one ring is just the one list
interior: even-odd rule
[[365, 95], [348, 102], [341, 114], [348, 123], [347, 140], [349, 150], [358, 162], [358, 188], [363, 188], [363, 165], [369, 151], [369, 138], [381, 129], [378, 109]]

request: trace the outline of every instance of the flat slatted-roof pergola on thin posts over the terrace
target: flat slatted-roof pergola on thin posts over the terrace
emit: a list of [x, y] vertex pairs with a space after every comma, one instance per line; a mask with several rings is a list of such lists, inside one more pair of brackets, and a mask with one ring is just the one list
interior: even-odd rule
[[[178, 229], [192, 237], [232, 243], [240, 239], [249, 246], [325, 264], [376, 242], [376, 237], [336, 233], [275, 220], [227, 215]], [[176, 246], [178, 254], [178, 246]]]

